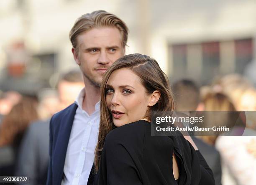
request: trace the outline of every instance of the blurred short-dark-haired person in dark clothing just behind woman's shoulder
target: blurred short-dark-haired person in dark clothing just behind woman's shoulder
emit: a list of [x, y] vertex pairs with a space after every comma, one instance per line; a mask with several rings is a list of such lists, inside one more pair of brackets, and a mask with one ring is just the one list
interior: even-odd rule
[[[175, 111], [201, 110], [200, 89], [195, 82], [187, 79], [179, 80], [172, 86], [175, 101]], [[201, 139], [191, 136], [209, 167], [212, 169], [215, 184], [221, 185], [220, 154], [214, 146], [203, 142]]]

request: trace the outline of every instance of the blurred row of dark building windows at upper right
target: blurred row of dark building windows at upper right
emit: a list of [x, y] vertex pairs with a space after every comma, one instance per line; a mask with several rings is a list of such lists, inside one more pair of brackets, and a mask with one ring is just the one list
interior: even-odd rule
[[[221, 47], [224, 45], [225, 47]], [[172, 62], [170, 66], [173, 67], [170, 70], [172, 73], [169, 74], [172, 81], [190, 78], [205, 85], [218, 75], [232, 72], [243, 74], [245, 66], [253, 59], [253, 39], [170, 43], [169, 53], [169, 61]], [[221, 53], [228, 53], [228, 58], [226, 56], [222, 58]]]

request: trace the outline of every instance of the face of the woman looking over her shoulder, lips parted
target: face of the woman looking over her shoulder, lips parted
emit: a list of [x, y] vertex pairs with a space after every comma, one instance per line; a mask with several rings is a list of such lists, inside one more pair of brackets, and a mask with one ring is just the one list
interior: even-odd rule
[[[158, 99], [157, 99], [158, 100]], [[130, 69], [114, 71], [106, 84], [106, 102], [116, 127], [145, 117], [148, 106], [156, 101], [155, 91], [146, 94], [140, 78]]]

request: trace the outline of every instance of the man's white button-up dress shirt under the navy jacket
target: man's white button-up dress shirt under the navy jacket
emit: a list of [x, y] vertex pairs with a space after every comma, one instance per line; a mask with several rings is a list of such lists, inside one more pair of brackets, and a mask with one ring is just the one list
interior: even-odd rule
[[94, 162], [98, 140], [100, 102], [90, 116], [82, 109], [84, 89], [75, 103], [78, 105], [71, 129], [61, 185], [86, 185]]

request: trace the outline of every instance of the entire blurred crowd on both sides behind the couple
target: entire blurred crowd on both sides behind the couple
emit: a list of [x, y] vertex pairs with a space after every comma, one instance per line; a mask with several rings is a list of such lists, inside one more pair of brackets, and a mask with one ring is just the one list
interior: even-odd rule
[[[51, 116], [74, 102], [83, 88], [79, 71], [59, 78], [55, 89], [37, 96], [0, 92], [0, 176], [30, 177], [30, 184], [45, 184]], [[189, 79], [172, 84], [176, 111], [256, 111], [256, 89], [244, 76], [228, 74], [207, 86]], [[247, 136], [193, 137], [215, 175], [216, 184], [256, 183], [256, 115], [246, 114]], [[228, 122], [221, 122], [222, 126]]]

